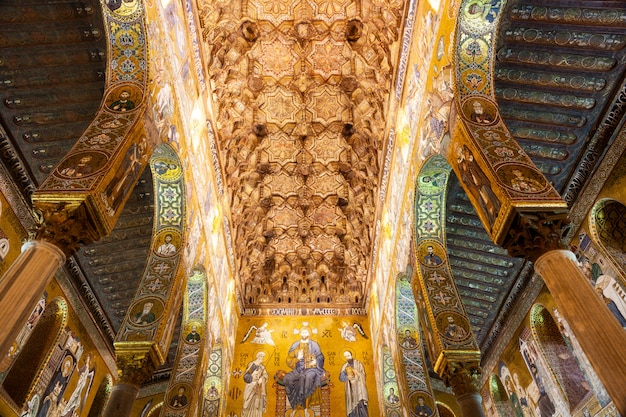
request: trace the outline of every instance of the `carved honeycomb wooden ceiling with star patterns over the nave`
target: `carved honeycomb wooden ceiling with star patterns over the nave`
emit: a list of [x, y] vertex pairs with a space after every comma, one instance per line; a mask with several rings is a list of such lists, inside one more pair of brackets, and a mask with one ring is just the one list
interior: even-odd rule
[[244, 303], [362, 307], [398, 2], [206, 4]]

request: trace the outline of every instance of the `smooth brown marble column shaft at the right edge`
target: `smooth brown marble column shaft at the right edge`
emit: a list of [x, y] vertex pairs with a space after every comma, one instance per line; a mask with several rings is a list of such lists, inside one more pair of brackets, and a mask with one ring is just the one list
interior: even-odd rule
[[550, 250], [535, 261], [559, 311], [621, 415], [626, 415], [626, 330], [611, 314], [568, 250]]

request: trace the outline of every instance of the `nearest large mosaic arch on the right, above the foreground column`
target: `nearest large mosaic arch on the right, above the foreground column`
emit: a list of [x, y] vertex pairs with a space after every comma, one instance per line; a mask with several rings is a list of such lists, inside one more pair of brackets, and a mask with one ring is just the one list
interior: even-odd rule
[[[498, 109], [494, 61], [503, 7], [504, 2], [480, 0], [461, 4], [446, 158], [492, 240], [521, 256], [509, 235], [511, 228], [519, 228], [519, 217], [535, 212], [563, 220], [567, 205], [509, 132]], [[469, 183], [472, 176], [479, 184]]]

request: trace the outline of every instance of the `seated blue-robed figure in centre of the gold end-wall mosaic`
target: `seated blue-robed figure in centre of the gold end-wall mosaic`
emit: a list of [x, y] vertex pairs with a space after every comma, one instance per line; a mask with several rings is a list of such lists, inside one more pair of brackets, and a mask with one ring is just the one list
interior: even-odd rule
[[287, 365], [292, 370], [285, 374], [283, 383], [292, 409], [308, 408], [311, 397], [322, 385], [324, 354], [310, 337], [311, 329], [304, 326], [300, 340], [292, 344], [287, 353]]

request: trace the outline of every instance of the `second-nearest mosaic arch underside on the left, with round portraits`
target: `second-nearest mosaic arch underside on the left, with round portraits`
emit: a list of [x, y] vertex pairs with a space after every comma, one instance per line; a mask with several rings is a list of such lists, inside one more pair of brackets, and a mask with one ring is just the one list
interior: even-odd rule
[[178, 155], [159, 145], [150, 159], [155, 217], [152, 243], [144, 274], [115, 339], [118, 357], [149, 354], [156, 366], [164, 363], [176, 326], [184, 285], [182, 254], [185, 227], [184, 173]]

